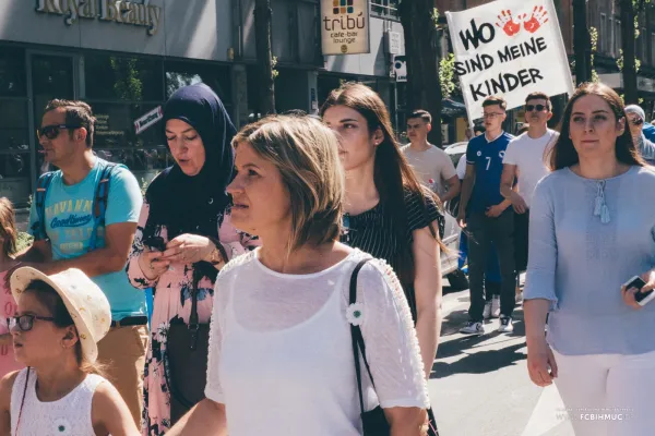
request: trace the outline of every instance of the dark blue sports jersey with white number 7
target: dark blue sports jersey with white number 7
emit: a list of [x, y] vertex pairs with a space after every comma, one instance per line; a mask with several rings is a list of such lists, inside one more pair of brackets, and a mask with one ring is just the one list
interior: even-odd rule
[[475, 185], [468, 201], [468, 214], [485, 213], [487, 208], [502, 203], [500, 178], [502, 159], [508, 144], [514, 136], [503, 132], [488, 142], [485, 135], [474, 137], [466, 148], [466, 164], [475, 165]]

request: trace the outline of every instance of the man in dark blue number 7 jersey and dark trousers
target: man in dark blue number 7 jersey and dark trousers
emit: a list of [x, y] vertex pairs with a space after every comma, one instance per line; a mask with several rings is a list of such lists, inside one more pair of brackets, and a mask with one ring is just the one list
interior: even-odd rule
[[502, 130], [507, 102], [489, 96], [483, 101], [484, 135], [471, 140], [466, 149], [466, 175], [462, 184], [457, 221], [467, 228], [475, 242], [468, 245], [468, 281], [471, 306], [468, 323], [460, 331], [483, 335], [485, 310], [485, 270], [489, 245], [493, 243], [500, 263], [500, 325], [498, 330], [511, 332], [514, 311], [514, 211], [512, 203], [500, 194], [502, 160], [512, 135]]

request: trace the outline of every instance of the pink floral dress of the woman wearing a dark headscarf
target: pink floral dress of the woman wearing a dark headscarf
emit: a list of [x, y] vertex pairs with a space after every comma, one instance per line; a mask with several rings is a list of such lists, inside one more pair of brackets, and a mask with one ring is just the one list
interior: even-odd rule
[[[148, 280], [139, 266], [139, 256], [144, 250], [143, 229], [147, 222], [150, 204], [146, 202], [141, 210], [139, 227], [134, 235], [128, 276], [132, 284], [141, 289], [153, 289], [154, 308], [151, 318], [151, 344], [145, 361], [144, 410], [142, 433], [147, 436], [158, 436], [170, 429], [170, 393], [164, 373], [166, 339], [170, 322], [181, 318], [189, 324], [191, 314], [191, 290], [193, 266], [191, 264], [172, 264], [157, 280]], [[165, 226], [158, 226], [155, 234], [168, 242]], [[229, 258], [254, 249], [259, 241], [254, 237], [237, 231], [230, 222], [228, 206], [218, 217], [218, 235]], [[229, 259], [228, 259], [229, 261]], [[209, 323], [212, 315], [214, 299], [214, 282], [203, 277], [198, 283], [198, 316], [200, 323]], [[178, 320], [178, 319], [176, 319]], [[166, 362], [166, 366], [168, 362]]]

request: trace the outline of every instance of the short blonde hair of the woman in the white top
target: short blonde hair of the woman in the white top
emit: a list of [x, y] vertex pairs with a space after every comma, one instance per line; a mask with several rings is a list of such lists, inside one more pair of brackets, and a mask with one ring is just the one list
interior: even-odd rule
[[291, 207], [288, 252], [338, 240], [344, 171], [334, 132], [313, 117], [270, 116], [241, 129], [233, 145], [241, 143], [282, 174]]

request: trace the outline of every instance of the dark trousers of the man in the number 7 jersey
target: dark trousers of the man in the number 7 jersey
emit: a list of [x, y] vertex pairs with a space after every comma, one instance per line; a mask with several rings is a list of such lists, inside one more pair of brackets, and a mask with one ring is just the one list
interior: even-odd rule
[[485, 270], [491, 242], [498, 252], [500, 264], [500, 314], [511, 316], [515, 304], [516, 275], [514, 267], [514, 210], [510, 207], [498, 218], [489, 218], [484, 213], [471, 214], [467, 228], [473, 235], [468, 241], [468, 283], [471, 307], [468, 318], [483, 320], [485, 310]]

